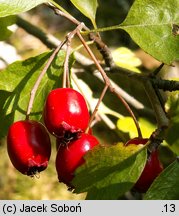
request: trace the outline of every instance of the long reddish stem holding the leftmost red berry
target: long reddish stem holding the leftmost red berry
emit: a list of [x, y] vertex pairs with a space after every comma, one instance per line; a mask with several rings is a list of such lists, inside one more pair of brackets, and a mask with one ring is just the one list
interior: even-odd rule
[[29, 99], [29, 104], [27, 107], [27, 112], [26, 112], [26, 120], [29, 119], [29, 115], [31, 113], [32, 107], [33, 107], [33, 102], [34, 102], [34, 98], [35, 98], [35, 94], [36, 91], [40, 85], [40, 82], [43, 78], [43, 76], [45, 75], [46, 71], [48, 70], [48, 68], [50, 67], [52, 61], [54, 60], [55, 56], [57, 55], [57, 53], [60, 51], [60, 49], [63, 47], [63, 45], [66, 43], [66, 40], [62, 41], [60, 43], [60, 45], [54, 50], [54, 52], [52, 53], [52, 55], [50, 56], [50, 58], [48, 59], [47, 64], [45, 65], [44, 69], [41, 71], [38, 79], [36, 80], [31, 92], [30, 92], [30, 99]]

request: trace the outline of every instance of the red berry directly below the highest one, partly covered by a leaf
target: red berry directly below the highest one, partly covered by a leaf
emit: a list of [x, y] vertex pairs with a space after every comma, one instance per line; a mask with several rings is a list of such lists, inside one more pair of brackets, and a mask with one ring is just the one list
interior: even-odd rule
[[75, 170], [85, 162], [83, 156], [98, 144], [99, 141], [94, 136], [83, 133], [79, 139], [72, 141], [68, 146], [60, 145], [56, 157], [59, 181], [71, 187], [70, 182]]

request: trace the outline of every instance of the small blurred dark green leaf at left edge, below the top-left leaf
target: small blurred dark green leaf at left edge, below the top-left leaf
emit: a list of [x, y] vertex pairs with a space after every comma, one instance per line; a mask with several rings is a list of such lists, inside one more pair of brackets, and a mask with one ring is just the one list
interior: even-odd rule
[[0, 41], [6, 40], [11, 34], [12, 31], [8, 29], [9, 26], [16, 22], [15, 16], [8, 16], [0, 18]]

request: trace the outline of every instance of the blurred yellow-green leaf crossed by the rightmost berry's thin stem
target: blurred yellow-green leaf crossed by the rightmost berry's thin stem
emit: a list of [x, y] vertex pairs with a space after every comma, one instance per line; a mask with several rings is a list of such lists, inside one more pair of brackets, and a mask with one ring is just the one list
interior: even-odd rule
[[[152, 132], [155, 130], [155, 126], [144, 118], [139, 118], [138, 123], [142, 131], [143, 137], [146, 137], [146, 138], [150, 137]], [[136, 126], [131, 117], [120, 118], [117, 121], [117, 128], [120, 131], [129, 133], [130, 138], [134, 138], [138, 136]]]

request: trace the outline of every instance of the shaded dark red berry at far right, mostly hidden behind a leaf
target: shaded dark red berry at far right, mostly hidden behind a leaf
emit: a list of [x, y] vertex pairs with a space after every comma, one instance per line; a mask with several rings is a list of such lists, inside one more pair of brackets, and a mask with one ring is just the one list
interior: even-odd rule
[[[129, 144], [143, 144], [145, 145], [148, 142], [148, 139], [141, 139], [141, 138], [134, 138], [129, 140], [125, 145]], [[144, 170], [136, 182], [134, 188], [141, 192], [145, 193], [154, 179], [163, 171], [163, 166], [159, 160], [158, 150], [154, 150], [150, 153], [150, 155], [147, 158], [146, 165], [144, 167]]]

